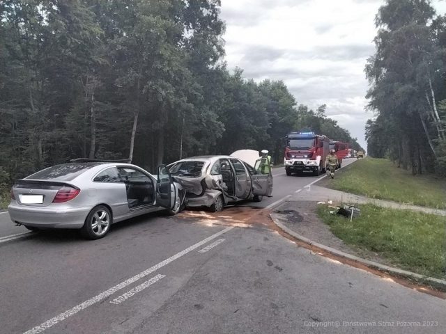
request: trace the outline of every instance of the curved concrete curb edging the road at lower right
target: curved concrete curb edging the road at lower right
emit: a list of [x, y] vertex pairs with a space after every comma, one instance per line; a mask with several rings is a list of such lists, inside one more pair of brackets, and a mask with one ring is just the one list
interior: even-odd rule
[[299, 241], [305, 242], [305, 244], [309, 244], [309, 246], [316, 246], [317, 248], [321, 248], [332, 255], [337, 255], [339, 257], [345, 257], [348, 260], [353, 260], [355, 262], [359, 262], [371, 269], [378, 269], [380, 271], [385, 271], [387, 273], [390, 273], [394, 276], [403, 276], [405, 278], [411, 278], [413, 280], [420, 281], [422, 283], [428, 283], [429, 285], [431, 285], [433, 287], [440, 287], [442, 289], [446, 289], [446, 280], [440, 280], [439, 278], [423, 276], [423, 275], [420, 275], [419, 273], [413, 273], [412, 271], [406, 271], [406, 270], [397, 269], [394, 267], [389, 267], [389, 266], [386, 266], [385, 264], [380, 264], [378, 262], [365, 260], [362, 257], [357, 257], [355, 255], [341, 252], [341, 250], [337, 250], [337, 249], [325, 246], [323, 244], [319, 244], [318, 242], [308, 239], [306, 237], [303, 237], [302, 235], [287, 228], [284, 224], [282, 224], [279, 221], [279, 219], [276, 217], [276, 214], [270, 214], [270, 217], [271, 217], [272, 221], [277, 225], [277, 227], [279, 227], [282, 231], [286, 232], [287, 234], [290, 234], [291, 236], [295, 237]]

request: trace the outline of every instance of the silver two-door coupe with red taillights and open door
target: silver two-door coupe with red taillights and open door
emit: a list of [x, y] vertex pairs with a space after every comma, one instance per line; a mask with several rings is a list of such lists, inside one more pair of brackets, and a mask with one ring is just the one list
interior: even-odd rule
[[29, 230], [79, 228], [99, 239], [112, 223], [161, 207], [177, 214], [183, 199], [183, 187], [165, 166], [154, 177], [132, 164], [77, 159], [15, 182], [8, 212]]

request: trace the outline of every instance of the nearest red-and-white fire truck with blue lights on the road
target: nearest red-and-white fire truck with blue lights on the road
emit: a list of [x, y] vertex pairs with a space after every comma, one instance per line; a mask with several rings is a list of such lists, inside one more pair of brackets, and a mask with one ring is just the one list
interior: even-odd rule
[[290, 132], [285, 136], [284, 166], [286, 175], [326, 172], [325, 158], [329, 154], [330, 139], [314, 132]]

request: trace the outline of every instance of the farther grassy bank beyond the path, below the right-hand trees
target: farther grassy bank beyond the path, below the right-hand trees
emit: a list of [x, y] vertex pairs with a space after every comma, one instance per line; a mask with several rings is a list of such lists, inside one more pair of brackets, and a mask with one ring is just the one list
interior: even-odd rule
[[[344, 168], [343, 168], [344, 169]], [[410, 205], [446, 209], [446, 180], [411, 175], [387, 159], [360, 159], [340, 170], [327, 186], [332, 189]]]

